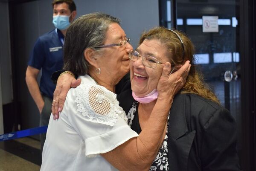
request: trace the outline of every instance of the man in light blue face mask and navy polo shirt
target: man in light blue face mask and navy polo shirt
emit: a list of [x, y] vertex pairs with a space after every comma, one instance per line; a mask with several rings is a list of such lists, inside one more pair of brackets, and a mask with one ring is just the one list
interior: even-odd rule
[[[55, 29], [40, 36], [35, 42], [26, 69], [26, 84], [40, 112], [40, 126], [48, 125], [51, 115], [55, 84], [51, 75], [63, 67], [63, 44], [67, 27], [76, 17], [76, 4], [73, 0], [53, 0], [53, 19]], [[42, 70], [40, 86], [38, 74]], [[46, 133], [41, 134], [43, 151]]]

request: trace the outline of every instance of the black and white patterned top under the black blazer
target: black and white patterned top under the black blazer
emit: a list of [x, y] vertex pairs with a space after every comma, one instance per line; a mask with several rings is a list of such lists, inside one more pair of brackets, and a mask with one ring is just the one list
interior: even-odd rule
[[[134, 101], [129, 113], [128, 117], [128, 125], [135, 130], [137, 133], [141, 132], [140, 123], [138, 119], [138, 102]], [[134, 122], [133, 122], [134, 121]], [[163, 145], [159, 149], [157, 157], [154, 159], [149, 171], [169, 171], [169, 164], [168, 164], [168, 122], [169, 116], [167, 121], [167, 129], [166, 129], [166, 136], [163, 140]]]

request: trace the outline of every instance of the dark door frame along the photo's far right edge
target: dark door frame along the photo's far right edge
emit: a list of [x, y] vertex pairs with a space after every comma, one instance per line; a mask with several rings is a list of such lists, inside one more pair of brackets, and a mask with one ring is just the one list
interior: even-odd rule
[[240, 0], [241, 51], [241, 164], [245, 171], [256, 171], [256, 3]]

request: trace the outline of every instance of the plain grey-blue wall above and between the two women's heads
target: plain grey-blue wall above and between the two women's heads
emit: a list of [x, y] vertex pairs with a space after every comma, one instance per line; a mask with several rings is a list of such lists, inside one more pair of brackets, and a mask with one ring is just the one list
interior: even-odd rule
[[76, 0], [78, 16], [91, 12], [104, 12], [122, 20], [122, 28], [137, 46], [141, 33], [159, 25], [158, 0]]

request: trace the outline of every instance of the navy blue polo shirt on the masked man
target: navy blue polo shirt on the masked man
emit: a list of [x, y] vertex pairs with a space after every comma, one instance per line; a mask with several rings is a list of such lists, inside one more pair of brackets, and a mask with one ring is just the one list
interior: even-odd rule
[[38, 70], [42, 69], [40, 91], [44, 96], [53, 98], [56, 85], [51, 75], [63, 67], [64, 35], [60, 30], [54, 29], [38, 38], [30, 55], [28, 65]]

